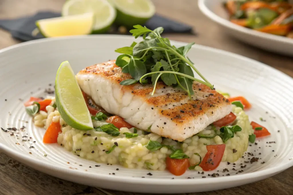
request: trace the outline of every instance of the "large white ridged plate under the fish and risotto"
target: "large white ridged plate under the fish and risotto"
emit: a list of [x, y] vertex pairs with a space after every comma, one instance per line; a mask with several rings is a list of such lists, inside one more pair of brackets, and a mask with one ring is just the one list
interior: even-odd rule
[[[257, 61], [200, 45], [193, 46], [188, 56], [201, 73], [217, 89], [245, 96], [253, 105], [253, 109], [248, 112], [250, 119], [256, 122], [260, 122], [259, 117], [266, 119], [267, 122], [260, 124], [265, 125], [272, 134], [257, 141], [258, 145], [248, 147], [248, 152], [262, 159], [252, 164], [246, 163], [244, 172], [236, 174], [236, 171], [231, 170], [231, 164], [231, 176], [222, 177], [227, 174], [222, 170], [228, 165], [221, 163], [217, 169], [219, 172], [211, 171], [201, 175], [188, 170], [184, 175], [176, 177], [167, 171], [134, 170], [120, 165], [98, 164], [81, 159], [57, 144], [43, 144], [45, 130], [34, 127], [19, 98], [27, 100], [30, 96], [42, 96], [45, 88], [52, 88], [48, 84], [54, 83], [57, 68], [62, 61], [68, 60], [77, 73], [94, 63], [115, 59], [118, 54], [114, 50], [130, 45], [133, 40], [130, 36], [119, 35], [40, 39], [1, 50], [0, 126], [4, 129], [25, 126], [23, 131], [17, 130], [13, 136], [10, 136], [13, 130], [0, 130], [1, 151], [36, 170], [64, 180], [147, 193], [187, 193], [235, 187], [270, 177], [293, 165], [293, 160], [289, 160], [293, 157], [292, 78]], [[185, 43], [173, 44], [181, 46]], [[276, 143], [266, 144], [267, 141]], [[31, 145], [34, 148], [30, 149]], [[236, 162], [236, 170], [241, 170], [240, 163], [245, 164], [243, 161], [245, 159], [240, 158]], [[261, 163], [263, 161], [264, 164]], [[97, 164], [101, 166], [95, 167]], [[147, 175], [149, 172], [153, 175]], [[219, 173], [220, 177], [208, 177], [207, 174], [214, 172]], [[175, 179], [171, 179], [173, 177]]]

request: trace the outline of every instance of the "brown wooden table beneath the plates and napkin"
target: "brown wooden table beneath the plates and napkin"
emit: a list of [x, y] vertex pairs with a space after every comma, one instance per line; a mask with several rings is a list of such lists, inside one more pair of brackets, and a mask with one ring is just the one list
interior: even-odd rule
[[[0, 0], [0, 19], [16, 18], [34, 14], [40, 10], [60, 11], [65, 0]], [[206, 18], [194, 0], [160, 0], [154, 1], [156, 10], [161, 15], [192, 25], [197, 36], [189, 34], [168, 34], [171, 40], [195, 42], [236, 54], [241, 54], [268, 64], [293, 77], [293, 59], [269, 53], [243, 44], [222, 32], [222, 29]], [[10, 34], [0, 30], [0, 49], [19, 43]], [[197, 193], [203, 194], [292, 194], [293, 167], [266, 180], [247, 184], [241, 187]], [[84, 194], [84, 195], [122, 195], [138, 193], [118, 192], [88, 187], [64, 181], [50, 175], [35, 171], [0, 153], [0, 194]], [[190, 194], [191, 195], [191, 194]]]

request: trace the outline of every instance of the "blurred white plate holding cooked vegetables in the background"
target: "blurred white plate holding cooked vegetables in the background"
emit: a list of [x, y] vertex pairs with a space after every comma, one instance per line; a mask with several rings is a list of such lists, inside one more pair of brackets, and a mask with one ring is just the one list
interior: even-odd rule
[[273, 34], [258, 32], [245, 28], [228, 20], [228, 13], [223, 7], [226, 0], [199, 0], [198, 6], [202, 13], [218, 23], [233, 37], [261, 49], [279, 54], [293, 56], [293, 39]]

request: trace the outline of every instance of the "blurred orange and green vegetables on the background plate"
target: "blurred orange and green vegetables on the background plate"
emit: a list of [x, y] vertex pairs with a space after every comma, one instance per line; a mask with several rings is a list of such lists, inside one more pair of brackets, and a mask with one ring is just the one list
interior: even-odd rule
[[293, 4], [288, 0], [229, 0], [224, 6], [234, 24], [293, 38]]

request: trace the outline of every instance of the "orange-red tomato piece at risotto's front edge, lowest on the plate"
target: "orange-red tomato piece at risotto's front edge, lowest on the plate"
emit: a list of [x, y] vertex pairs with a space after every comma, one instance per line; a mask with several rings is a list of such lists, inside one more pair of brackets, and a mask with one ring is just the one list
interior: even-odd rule
[[188, 158], [184, 159], [175, 159], [175, 158], [166, 158], [166, 169], [169, 170], [173, 175], [182, 175], [190, 167]]

